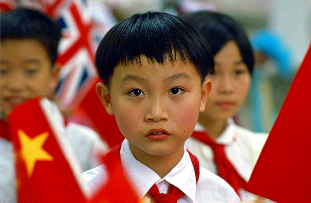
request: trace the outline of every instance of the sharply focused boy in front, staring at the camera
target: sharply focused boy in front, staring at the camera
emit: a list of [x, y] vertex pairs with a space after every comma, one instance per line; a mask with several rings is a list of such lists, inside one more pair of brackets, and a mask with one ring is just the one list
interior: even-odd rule
[[[126, 138], [109, 154], [153, 202], [240, 201], [223, 179], [199, 167], [184, 148], [211, 88], [213, 58], [188, 23], [160, 12], [136, 14], [102, 39], [96, 86]], [[104, 166], [84, 173], [98, 188]], [[173, 192], [172, 192], [173, 191]]]

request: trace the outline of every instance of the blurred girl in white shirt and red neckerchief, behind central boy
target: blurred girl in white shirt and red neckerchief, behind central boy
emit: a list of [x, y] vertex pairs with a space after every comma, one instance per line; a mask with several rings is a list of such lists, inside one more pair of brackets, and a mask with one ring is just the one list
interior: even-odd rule
[[244, 191], [267, 139], [235, 124], [233, 117], [246, 99], [251, 84], [253, 51], [243, 28], [221, 13], [197, 11], [184, 16], [211, 46], [215, 73], [206, 108], [185, 146], [200, 165], [224, 178], [242, 200], [258, 196]]

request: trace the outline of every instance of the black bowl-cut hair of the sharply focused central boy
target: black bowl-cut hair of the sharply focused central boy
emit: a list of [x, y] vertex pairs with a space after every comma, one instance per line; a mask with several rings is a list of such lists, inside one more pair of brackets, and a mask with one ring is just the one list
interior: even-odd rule
[[99, 44], [95, 67], [109, 88], [114, 68], [140, 63], [141, 56], [160, 64], [180, 56], [196, 67], [202, 82], [214, 70], [206, 40], [183, 19], [163, 12], [135, 14], [111, 28]]

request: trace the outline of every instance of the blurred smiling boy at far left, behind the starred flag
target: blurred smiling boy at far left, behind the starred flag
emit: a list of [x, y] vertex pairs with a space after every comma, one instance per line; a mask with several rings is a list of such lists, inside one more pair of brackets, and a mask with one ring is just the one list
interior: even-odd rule
[[[55, 64], [61, 31], [57, 23], [39, 11], [17, 8], [1, 16], [1, 202], [15, 202], [15, 176], [12, 143], [7, 118], [12, 109], [35, 97], [48, 97], [58, 83]], [[51, 102], [55, 117], [62, 122], [64, 134], [83, 171], [95, 167], [90, 159], [97, 150], [106, 149], [95, 131], [68, 123]], [[34, 124], [35, 125], [35, 124]], [[82, 147], [83, 146], [83, 147]]]

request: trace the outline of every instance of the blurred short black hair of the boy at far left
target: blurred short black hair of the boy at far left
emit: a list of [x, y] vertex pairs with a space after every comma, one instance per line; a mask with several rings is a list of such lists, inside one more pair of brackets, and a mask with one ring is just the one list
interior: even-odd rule
[[34, 39], [46, 49], [51, 65], [57, 58], [61, 29], [38, 10], [18, 7], [1, 15], [1, 42], [6, 39]]

